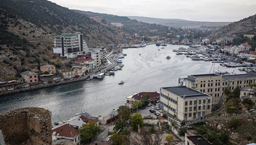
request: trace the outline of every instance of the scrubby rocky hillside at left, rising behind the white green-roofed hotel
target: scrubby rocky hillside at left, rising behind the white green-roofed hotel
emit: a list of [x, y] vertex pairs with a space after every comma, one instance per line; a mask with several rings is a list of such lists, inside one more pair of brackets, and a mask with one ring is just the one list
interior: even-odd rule
[[[44, 64], [65, 67], [53, 54], [53, 38], [62, 33], [84, 33], [90, 46], [126, 43], [110, 22], [98, 22], [47, 0], [2, 0], [0, 3], [0, 81]], [[68, 69], [68, 67], [66, 67]]]

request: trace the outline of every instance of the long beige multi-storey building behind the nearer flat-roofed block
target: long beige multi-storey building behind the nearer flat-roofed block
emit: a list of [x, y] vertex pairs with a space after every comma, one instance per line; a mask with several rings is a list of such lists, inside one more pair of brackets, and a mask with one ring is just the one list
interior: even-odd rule
[[255, 83], [255, 80], [255, 71], [235, 75], [218, 75], [215, 73], [209, 73], [188, 75], [187, 78], [179, 77], [178, 85], [184, 85], [211, 95], [212, 105], [214, 107], [218, 104], [225, 87], [233, 91], [237, 86], [240, 88], [248, 87], [251, 83]]

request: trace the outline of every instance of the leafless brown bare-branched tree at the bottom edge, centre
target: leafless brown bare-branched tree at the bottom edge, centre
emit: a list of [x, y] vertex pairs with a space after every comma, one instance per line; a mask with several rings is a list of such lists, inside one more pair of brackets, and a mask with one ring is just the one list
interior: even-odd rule
[[161, 145], [164, 142], [162, 133], [156, 131], [154, 134], [150, 130], [141, 129], [140, 133], [129, 136], [130, 145]]

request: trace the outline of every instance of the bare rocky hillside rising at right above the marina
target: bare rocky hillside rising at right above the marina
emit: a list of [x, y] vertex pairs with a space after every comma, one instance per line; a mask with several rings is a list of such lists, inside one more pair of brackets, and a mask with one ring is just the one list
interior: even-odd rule
[[244, 18], [240, 21], [233, 22], [227, 26], [224, 26], [208, 36], [212, 41], [226, 36], [226, 37], [236, 37], [237, 34], [252, 30], [256, 27], [256, 15]]

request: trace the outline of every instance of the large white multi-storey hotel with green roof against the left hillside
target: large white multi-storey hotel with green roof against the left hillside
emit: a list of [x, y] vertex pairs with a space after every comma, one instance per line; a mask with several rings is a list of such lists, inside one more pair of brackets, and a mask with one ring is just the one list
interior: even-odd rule
[[66, 58], [82, 57], [89, 53], [83, 34], [62, 34], [54, 37], [53, 52]]

